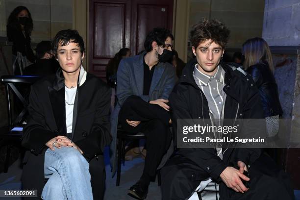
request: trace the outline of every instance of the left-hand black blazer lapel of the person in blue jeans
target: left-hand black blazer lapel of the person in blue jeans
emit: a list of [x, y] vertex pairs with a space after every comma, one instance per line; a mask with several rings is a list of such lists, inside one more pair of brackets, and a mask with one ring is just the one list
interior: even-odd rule
[[55, 90], [48, 87], [53, 115], [55, 118], [58, 135], [66, 135], [66, 107], [65, 107], [65, 89]]

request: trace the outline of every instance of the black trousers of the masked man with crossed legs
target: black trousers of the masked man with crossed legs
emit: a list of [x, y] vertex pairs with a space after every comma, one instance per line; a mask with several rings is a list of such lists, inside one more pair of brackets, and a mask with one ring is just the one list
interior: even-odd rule
[[[138, 96], [128, 97], [121, 107], [119, 122], [123, 129], [130, 133], [142, 132], [146, 135], [147, 155], [143, 174], [155, 176], [156, 168], [170, 146], [170, 118], [170, 112]], [[126, 119], [141, 123], [133, 127], [127, 124]]]

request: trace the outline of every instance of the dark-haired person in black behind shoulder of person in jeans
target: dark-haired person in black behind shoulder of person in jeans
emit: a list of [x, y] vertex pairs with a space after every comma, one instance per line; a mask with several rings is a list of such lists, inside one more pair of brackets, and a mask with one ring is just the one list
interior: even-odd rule
[[25, 68], [23, 75], [46, 76], [54, 74], [59, 68], [57, 60], [53, 59], [51, 41], [43, 40], [36, 46], [35, 63]]

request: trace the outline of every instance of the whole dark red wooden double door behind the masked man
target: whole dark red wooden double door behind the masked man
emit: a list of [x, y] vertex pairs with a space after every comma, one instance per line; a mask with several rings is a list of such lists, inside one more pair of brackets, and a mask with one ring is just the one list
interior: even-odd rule
[[144, 50], [154, 27], [172, 31], [174, 0], [90, 0], [89, 72], [105, 79], [105, 66], [121, 48]]

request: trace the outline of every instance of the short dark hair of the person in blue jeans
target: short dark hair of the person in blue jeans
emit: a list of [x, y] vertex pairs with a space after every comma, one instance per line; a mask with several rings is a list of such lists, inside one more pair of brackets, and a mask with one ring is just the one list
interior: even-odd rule
[[58, 44], [61, 46], [66, 46], [70, 42], [74, 42], [78, 44], [77, 46], [80, 47], [80, 52], [81, 54], [84, 52], [84, 42], [82, 37], [79, 35], [77, 30], [71, 30], [71, 29], [66, 29], [66, 30], [60, 30], [58, 33], [55, 35], [54, 39], [52, 40], [52, 50], [56, 56], [57, 54], [57, 49], [58, 49]]

